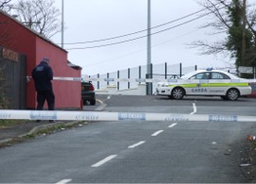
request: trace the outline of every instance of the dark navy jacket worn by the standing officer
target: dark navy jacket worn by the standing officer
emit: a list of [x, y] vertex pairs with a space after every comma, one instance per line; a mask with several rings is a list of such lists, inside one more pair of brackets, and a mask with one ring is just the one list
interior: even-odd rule
[[45, 61], [41, 61], [32, 71], [37, 92], [52, 90], [51, 80], [53, 73], [51, 67]]

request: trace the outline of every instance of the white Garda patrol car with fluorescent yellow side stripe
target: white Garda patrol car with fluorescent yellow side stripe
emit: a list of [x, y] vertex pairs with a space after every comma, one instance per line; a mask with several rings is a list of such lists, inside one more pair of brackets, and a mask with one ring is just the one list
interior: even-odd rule
[[251, 88], [243, 78], [224, 71], [207, 69], [194, 71], [181, 79], [159, 82], [155, 93], [174, 99], [182, 99], [184, 95], [203, 95], [237, 100], [239, 96], [249, 95]]

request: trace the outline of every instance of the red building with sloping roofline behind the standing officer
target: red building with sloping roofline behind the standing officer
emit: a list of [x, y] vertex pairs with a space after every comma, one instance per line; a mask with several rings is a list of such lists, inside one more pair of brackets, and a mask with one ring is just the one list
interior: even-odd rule
[[[71, 65], [67, 52], [60, 46], [21, 24], [0, 10], [0, 46], [27, 57], [27, 75], [43, 58], [50, 59], [54, 76], [81, 77], [82, 68]], [[79, 109], [81, 107], [81, 82], [54, 80], [56, 109]], [[35, 109], [36, 92], [33, 81], [27, 83], [27, 109]], [[47, 108], [45, 104], [45, 108]]]

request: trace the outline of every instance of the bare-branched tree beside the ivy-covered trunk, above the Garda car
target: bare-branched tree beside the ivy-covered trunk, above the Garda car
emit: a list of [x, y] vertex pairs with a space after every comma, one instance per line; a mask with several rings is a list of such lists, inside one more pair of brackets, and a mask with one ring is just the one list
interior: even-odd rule
[[[242, 0], [202, 0], [199, 4], [204, 7], [206, 11], [211, 13], [210, 22], [206, 25], [202, 25], [200, 28], [210, 28], [210, 36], [225, 34], [227, 37], [216, 42], [195, 41], [190, 45], [201, 49], [202, 55], [216, 55], [220, 53], [227, 53], [228, 51], [231, 53], [232, 58], [237, 59], [237, 53], [239, 49], [241, 49], [238, 49], [237, 45], [241, 43], [242, 46], [241, 39], [241, 42], [239, 43], [239, 36], [242, 31], [240, 30], [239, 33], [236, 32], [236, 35], [233, 32], [234, 30], [238, 31], [238, 29], [243, 25]], [[249, 64], [249, 60], [253, 59], [251, 56], [255, 55], [256, 52], [256, 9], [255, 5], [247, 5], [246, 9], [247, 14], [244, 18], [247, 38], [249, 38], [249, 42], [247, 42], [247, 44], [250, 44], [247, 46], [247, 64]], [[234, 26], [235, 21], [240, 22]], [[236, 40], [236, 42], [234, 42], [234, 40]], [[234, 44], [236, 45], [234, 46]], [[237, 64], [239, 63], [237, 62]]]

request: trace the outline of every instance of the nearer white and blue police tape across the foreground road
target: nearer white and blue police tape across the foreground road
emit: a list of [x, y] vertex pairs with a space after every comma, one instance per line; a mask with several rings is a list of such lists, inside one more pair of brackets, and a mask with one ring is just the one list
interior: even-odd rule
[[182, 114], [147, 112], [96, 112], [71, 110], [0, 110], [5, 120], [69, 120], [69, 121], [155, 121], [155, 122], [256, 122], [256, 116], [226, 114]]

